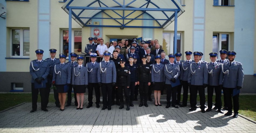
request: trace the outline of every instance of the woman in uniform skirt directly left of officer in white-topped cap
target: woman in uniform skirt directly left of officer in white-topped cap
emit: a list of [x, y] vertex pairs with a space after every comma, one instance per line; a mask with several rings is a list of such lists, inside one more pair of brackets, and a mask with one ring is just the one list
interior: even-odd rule
[[[88, 70], [83, 66], [84, 57], [77, 56], [78, 65], [72, 71], [72, 85], [77, 95], [77, 109], [83, 109], [84, 93], [88, 85]], [[81, 104], [80, 104], [81, 99]]]

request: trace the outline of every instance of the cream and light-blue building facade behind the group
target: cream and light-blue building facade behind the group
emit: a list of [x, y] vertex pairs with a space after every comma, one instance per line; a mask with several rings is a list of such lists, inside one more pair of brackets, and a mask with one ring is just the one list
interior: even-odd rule
[[[255, 0], [179, 0], [185, 12], [177, 21], [177, 51], [201, 51], [210, 61], [209, 53], [221, 49], [234, 50], [235, 61], [244, 68], [242, 93], [256, 93], [256, 23]], [[81, 27], [72, 20], [71, 51], [68, 50], [68, 14], [58, 0], [0, 0], [6, 14], [0, 18], [0, 91], [31, 91], [29, 65], [36, 59], [34, 51], [43, 49], [43, 59], [49, 58], [49, 49], [57, 54], [84, 52], [88, 38], [97, 36], [110, 42], [119, 39], [158, 39], [167, 53], [174, 52], [174, 23], [162, 28]], [[128, 12], [125, 12], [128, 14]], [[140, 12], [138, 12], [139, 14]], [[113, 13], [109, 12], [109, 14]], [[136, 17], [137, 14], [133, 14]], [[99, 13], [97, 17], [107, 17]], [[139, 18], [150, 18], [143, 14]], [[113, 20], [92, 19], [92, 25], [109, 25]], [[154, 20], [138, 20], [130, 25], [158, 25]], [[98, 31], [98, 32], [94, 32]], [[57, 56], [56, 56], [57, 57]], [[185, 60], [185, 56], [182, 56]]]

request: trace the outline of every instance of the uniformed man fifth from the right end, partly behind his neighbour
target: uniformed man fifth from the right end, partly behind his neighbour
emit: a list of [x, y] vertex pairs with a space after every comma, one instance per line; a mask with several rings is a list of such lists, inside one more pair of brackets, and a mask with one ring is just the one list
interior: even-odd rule
[[182, 99], [182, 105], [180, 107], [187, 106], [188, 88], [190, 90], [190, 87], [188, 86], [188, 73], [190, 73], [190, 71], [188, 71], [188, 68], [191, 63], [195, 62], [191, 60], [191, 54], [192, 54], [191, 51], [186, 51], [185, 54], [186, 54], [186, 60], [181, 63], [181, 67], [180, 67], [181, 75], [179, 79], [181, 80], [181, 84], [183, 87], [183, 99]]

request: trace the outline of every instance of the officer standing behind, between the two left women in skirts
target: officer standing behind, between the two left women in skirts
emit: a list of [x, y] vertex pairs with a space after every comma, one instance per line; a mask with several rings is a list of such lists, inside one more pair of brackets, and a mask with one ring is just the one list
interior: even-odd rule
[[[76, 53], [70, 53], [70, 57], [71, 57], [71, 61], [67, 62], [67, 64], [70, 65], [70, 69], [71, 69], [70, 71], [71, 71], [71, 75], [72, 75], [72, 72], [74, 71], [74, 67], [77, 67], [77, 65], [78, 65], [78, 63], [75, 61], [76, 58], [77, 58], [77, 54]], [[71, 81], [72, 81], [72, 77], [71, 77]], [[72, 93], [72, 86], [69, 86], [69, 89], [68, 89], [68, 100], [67, 100], [66, 107], [71, 105], [71, 100], [72, 100], [71, 93]], [[75, 90], [74, 90], [74, 99], [75, 99], [75, 106], [77, 106], [78, 103], [77, 103], [77, 95], [75, 93]]]

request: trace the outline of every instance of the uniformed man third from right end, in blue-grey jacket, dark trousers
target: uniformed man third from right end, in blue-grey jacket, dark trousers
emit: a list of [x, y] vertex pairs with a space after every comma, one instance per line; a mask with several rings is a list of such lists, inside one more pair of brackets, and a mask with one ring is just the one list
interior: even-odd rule
[[221, 88], [220, 84], [222, 84], [223, 77], [220, 77], [220, 73], [222, 72], [222, 65], [220, 62], [217, 62], [218, 54], [216, 52], [212, 52], [209, 54], [211, 62], [207, 63], [208, 69], [208, 87], [207, 87], [207, 95], [208, 95], [208, 109], [206, 112], [212, 110], [212, 96], [213, 96], [213, 89], [215, 90], [216, 94], [216, 103], [215, 106], [218, 109], [219, 113], [223, 114], [221, 110], [222, 101], [221, 101]]

